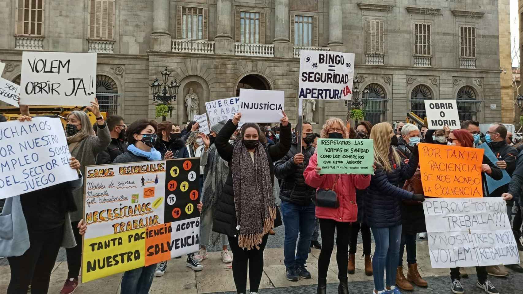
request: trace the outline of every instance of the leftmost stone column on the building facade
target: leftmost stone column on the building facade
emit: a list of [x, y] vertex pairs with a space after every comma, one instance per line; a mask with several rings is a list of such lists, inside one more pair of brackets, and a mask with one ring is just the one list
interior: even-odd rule
[[154, 0], [151, 50], [170, 51], [170, 39], [169, 0]]

